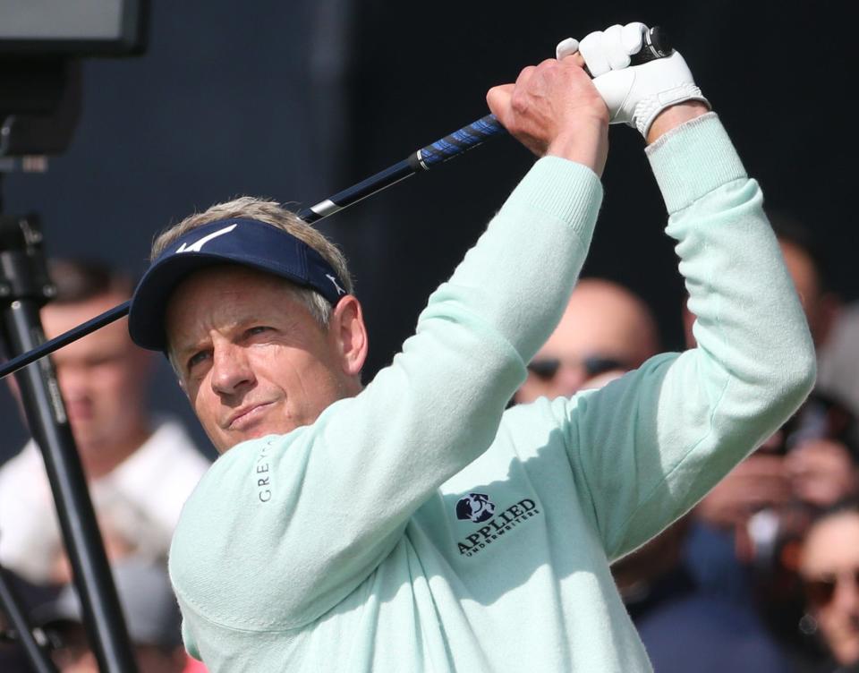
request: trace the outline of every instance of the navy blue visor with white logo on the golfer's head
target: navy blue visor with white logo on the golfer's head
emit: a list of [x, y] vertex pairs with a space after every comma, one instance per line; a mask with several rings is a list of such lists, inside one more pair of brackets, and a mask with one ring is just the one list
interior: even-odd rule
[[346, 294], [334, 268], [307, 243], [255, 219], [230, 218], [191, 229], [149, 265], [128, 316], [132, 341], [166, 351], [165, 312], [177, 285], [201, 268], [239, 264], [310, 287], [332, 306]]

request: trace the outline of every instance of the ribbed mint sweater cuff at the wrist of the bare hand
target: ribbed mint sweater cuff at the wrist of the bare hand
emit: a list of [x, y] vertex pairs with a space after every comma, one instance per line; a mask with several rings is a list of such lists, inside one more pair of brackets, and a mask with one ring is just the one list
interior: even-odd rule
[[543, 157], [510, 194], [501, 213], [538, 209], [590, 234], [602, 203], [600, 178], [587, 166], [560, 157]]

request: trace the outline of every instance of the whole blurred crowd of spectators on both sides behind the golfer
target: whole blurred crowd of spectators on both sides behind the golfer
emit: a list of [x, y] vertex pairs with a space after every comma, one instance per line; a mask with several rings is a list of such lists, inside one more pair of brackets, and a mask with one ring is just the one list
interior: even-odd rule
[[[797, 413], [702, 502], [613, 567], [654, 669], [859, 671], [859, 307], [842, 305], [806, 229], [770, 213], [819, 355]], [[115, 269], [55, 260], [54, 337], [126, 300]], [[686, 346], [693, 316], [677, 307]], [[583, 278], [511, 404], [610, 386], [663, 348], [645, 302]], [[170, 537], [208, 460], [147, 409], [149, 355], [124, 321], [55, 355], [57, 376], [140, 670], [200, 671], [166, 575]], [[610, 447], [606, 447], [610, 450]], [[96, 671], [38, 447], [0, 467], [0, 566], [58, 669]], [[0, 670], [29, 670], [0, 609]]]

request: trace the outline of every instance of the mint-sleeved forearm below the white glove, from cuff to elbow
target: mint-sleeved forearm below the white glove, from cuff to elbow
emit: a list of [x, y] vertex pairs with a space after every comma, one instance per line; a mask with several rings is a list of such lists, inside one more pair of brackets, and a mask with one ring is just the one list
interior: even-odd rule
[[[670, 149], [680, 143], [684, 151]], [[745, 175], [716, 115], [673, 129], [648, 153], [704, 355], [746, 383], [805, 379], [814, 354], [802, 307], [760, 186]]]

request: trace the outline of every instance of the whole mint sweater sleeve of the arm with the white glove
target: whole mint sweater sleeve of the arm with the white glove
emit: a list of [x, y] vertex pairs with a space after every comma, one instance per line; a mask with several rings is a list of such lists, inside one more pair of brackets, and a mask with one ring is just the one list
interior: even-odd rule
[[762, 210], [716, 115], [649, 148], [698, 346], [561, 403], [584, 510], [609, 558], [683, 515], [802, 403], [814, 352]]

